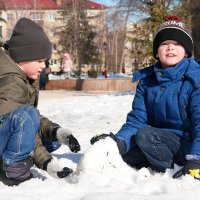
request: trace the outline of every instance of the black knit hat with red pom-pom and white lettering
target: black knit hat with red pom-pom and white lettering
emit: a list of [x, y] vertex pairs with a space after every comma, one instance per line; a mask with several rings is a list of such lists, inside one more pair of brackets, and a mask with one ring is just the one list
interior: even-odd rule
[[165, 17], [165, 22], [158, 27], [158, 31], [153, 41], [154, 58], [156, 58], [158, 47], [166, 40], [175, 40], [179, 42], [185, 48], [186, 52], [188, 53], [188, 57], [192, 56], [192, 36], [181, 18], [177, 16], [167, 16]]

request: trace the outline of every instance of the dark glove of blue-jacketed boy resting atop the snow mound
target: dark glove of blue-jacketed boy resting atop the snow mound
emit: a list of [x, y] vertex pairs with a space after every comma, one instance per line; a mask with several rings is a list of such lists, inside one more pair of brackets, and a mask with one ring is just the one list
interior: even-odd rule
[[120, 154], [124, 154], [126, 151], [126, 144], [123, 140], [118, 139], [113, 133], [110, 134], [97, 134], [94, 137], [91, 138], [90, 143], [93, 145], [95, 142], [101, 140], [101, 139], [105, 139], [106, 137], [110, 137], [112, 138], [116, 143], [117, 143], [117, 147], [119, 149], [119, 153]]

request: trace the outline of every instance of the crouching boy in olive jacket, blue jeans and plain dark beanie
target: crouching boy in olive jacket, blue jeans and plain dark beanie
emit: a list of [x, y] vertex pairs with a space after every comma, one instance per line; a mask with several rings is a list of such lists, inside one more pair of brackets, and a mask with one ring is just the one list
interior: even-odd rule
[[[72, 170], [57, 169], [50, 152], [60, 144], [77, 152], [80, 145], [70, 130], [41, 116], [36, 108], [39, 76], [51, 57], [52, 44], [41, 26], [22, 18], [6, 49], [0, 48], [0, 181], [12, 186], [29, 180], [33, 163], [54, 177], [66, 177]], [[56, 148], [51, 147], [53, 142]]]

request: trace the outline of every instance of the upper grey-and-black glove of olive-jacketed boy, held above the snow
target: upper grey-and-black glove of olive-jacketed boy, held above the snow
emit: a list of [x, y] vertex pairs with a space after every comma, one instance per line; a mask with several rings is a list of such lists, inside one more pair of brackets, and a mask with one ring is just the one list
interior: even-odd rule
[[72, 152], [76, 153], [80, 151], [80, 144], [78, 140], [72, 135], [72, 132], [70, 130], [58, 128], [56, 132], [56, 137], [60, 143], [69, 146]]

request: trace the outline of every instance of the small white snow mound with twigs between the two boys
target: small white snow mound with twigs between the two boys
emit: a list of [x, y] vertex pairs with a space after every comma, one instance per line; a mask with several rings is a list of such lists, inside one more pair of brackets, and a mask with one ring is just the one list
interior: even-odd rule
[[78, 171], [90, 177], [98, 175], [104, 181], [114, 178], [130, 182], [133, 174], [133, 169], [122, 160], [116, 142], [109, 137], [90, 146], [83, 154]]

